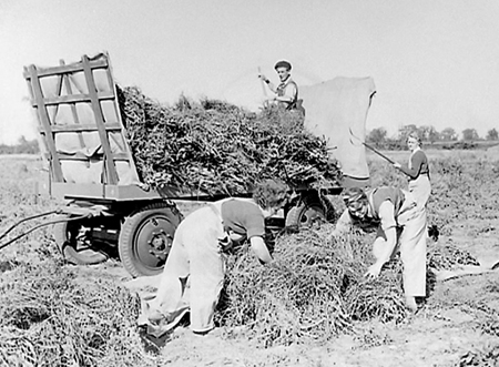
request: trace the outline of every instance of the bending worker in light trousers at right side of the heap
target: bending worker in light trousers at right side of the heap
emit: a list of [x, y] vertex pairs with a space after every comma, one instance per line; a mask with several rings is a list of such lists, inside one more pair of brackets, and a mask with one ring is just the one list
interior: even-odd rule
[[[345, 234], [354, 222], [379, 223], [373, 244], [375, 264], [365, 276], [375, 278], [396, 252], [397, 242], [404, 264], [403, 283], [406, 306], [417, 312], [416, 297], [426, 296], [426, 214], [414, 195], [397, 187], [381, 186], [364, 192], [347, 188], [343, 198], [346, 210], [339, 217], [333, 236]], [[397, 241], [398, 239], [398, 241]]]

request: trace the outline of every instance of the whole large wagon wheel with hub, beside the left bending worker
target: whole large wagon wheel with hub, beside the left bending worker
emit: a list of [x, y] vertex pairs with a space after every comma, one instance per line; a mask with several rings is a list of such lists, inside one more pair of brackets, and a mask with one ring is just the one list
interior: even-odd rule
[[162, 272], [181, 220], [179, 210], [169, 203], [146, 205], [125, 218], [118, 251], [130, 275], [149, 276]]

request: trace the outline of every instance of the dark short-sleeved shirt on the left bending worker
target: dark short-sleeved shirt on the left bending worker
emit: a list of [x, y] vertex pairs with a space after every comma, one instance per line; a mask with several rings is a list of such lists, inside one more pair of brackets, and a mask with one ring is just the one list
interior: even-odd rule
[[244, 238], [263, 236], [265, 220], [262, 210], [255, 203], [243, 200], [228, 200], [222, 204], [224, 231], [232, 231]]

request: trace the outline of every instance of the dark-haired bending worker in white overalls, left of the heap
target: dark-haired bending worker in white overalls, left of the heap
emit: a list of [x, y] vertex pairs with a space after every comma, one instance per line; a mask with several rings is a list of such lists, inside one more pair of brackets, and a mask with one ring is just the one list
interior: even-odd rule
[[272, 261], [264, 220], [286, 204], [287, 191], [284, 183], [267, 180], [257, 185], [253, 201], [225, 198], [189, 214], [176, 228], [155, 297], [142, 303], [139, 325], [160, 337], [189, 312], [195, 334], [212, 330], [226, 254], [247, 238], [261, 263]]

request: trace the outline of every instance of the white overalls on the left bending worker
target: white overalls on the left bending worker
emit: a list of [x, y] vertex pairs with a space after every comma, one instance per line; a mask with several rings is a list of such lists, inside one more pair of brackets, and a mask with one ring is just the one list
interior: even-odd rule
[[176, 228], [156, 296], [145, 304], [140, 317], [144, 323], [153, 314], [164, 316], [155, 334], [167, 332], [174, 326], [172, 322], [180, 320], [187, 310], [193, 332], [214, 328], [213, 316], [225, 276], [218, 242], [226, 238], [221, 205], [227, 200], [191, 213]]

